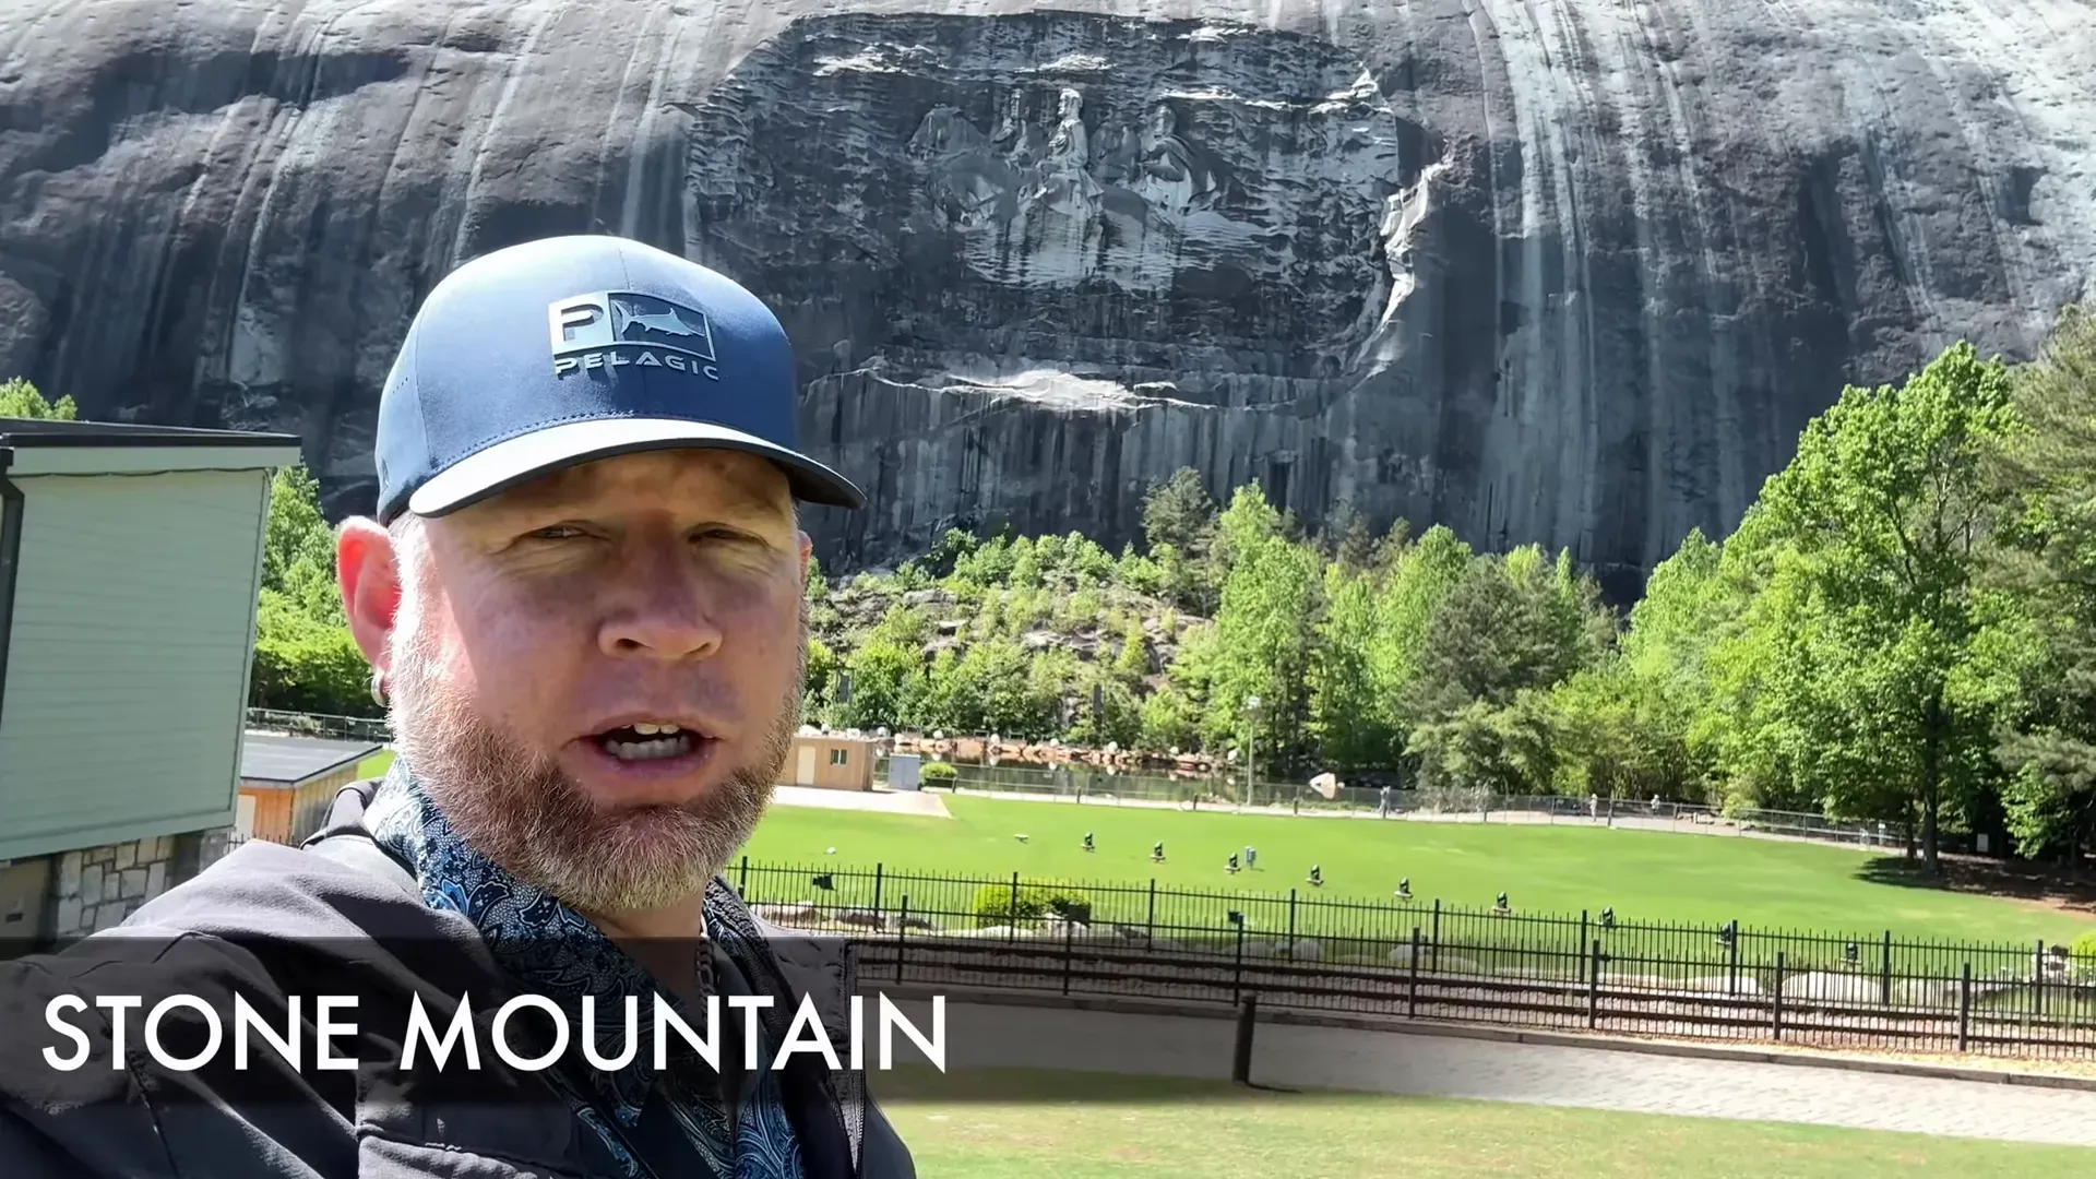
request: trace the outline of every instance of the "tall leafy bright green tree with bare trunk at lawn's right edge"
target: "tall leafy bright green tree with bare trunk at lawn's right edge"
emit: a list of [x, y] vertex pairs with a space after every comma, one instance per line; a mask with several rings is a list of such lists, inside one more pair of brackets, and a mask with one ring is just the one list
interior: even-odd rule
[[[1830, 814], [1918, 818], [1937, 871], [1945, 801], [1985, 776], [1987, 692], [1972, 682], [1977, 573], [1995, 514], [1983, 464], [2014, 432], [2008, 371], [1970, 344], [1903, 386], [1847, 388], [1807, 426], [1756, 510], [1784, 564], [1765, 613], [1800, 657], [1763, 690]], [[1813, 715], [1817, 713], [1817, 715]]]

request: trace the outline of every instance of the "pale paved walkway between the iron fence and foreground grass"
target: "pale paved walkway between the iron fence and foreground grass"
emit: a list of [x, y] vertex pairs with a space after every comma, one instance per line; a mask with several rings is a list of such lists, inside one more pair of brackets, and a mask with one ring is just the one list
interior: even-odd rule
[[[931, 1030], [926, 1003], [897, 1003]], [[1230, 1020], [947, 1003], [947, 1068], [1230, 1076]], [[870, 1036], [872, 1038], [872, 1036]], [[916, 1062], [908, 1041], [897, 1055]], [[1761, 1062], [1262, 1024], [1251, 1078], [2096, 1148], [2096, 1093]], [[2096, 1166], [2096, 1160], [2092, 1160]]]

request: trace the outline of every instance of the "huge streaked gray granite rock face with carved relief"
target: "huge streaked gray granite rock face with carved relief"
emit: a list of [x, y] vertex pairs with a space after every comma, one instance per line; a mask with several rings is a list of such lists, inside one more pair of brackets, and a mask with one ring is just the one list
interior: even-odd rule
[[2096, 296], [2088, 0], [38, 0], [0, 8], [0, 369], [306, 438], [474, 254], [627, 233], [773, 302], [832, 562], [1316, 520], [1729, 529], [1842, 382]]

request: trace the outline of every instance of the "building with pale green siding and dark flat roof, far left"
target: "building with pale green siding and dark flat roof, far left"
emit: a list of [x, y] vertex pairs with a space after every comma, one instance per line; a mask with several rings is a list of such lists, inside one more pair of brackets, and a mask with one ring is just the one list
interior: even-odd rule
[[298, 438], [0, 420], [0, 944], [107, 929], [235, 820]]

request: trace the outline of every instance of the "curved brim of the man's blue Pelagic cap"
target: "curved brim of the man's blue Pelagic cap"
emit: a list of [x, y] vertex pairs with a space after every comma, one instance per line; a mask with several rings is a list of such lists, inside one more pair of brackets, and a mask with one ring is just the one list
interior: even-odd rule
[[796, 499], [853, 510], [866, 506], [866, 495], [849, 478], [757, 434], [685, 417], [595, 417], [562, 422], [474, 451], [417, 487], [409, 495], [407, 510], [417, 516], [442, 516], [560, 468], [669, 449], [761, 455], [786, 472]]

